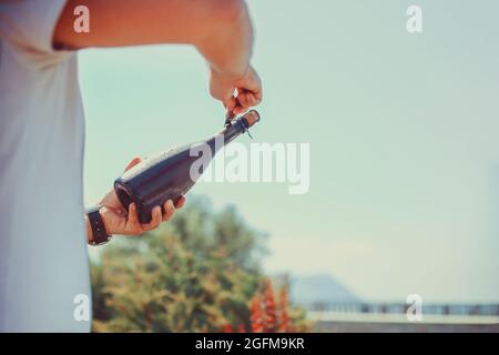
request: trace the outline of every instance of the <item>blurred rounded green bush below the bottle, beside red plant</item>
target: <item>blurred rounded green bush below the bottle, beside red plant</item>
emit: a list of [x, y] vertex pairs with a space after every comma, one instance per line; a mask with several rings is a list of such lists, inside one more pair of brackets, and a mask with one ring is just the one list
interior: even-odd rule
[[265, 234], [206, 200], [143, 237], [115, 239], [92, 262], [95, 332], [238, 332], [264, 284]]

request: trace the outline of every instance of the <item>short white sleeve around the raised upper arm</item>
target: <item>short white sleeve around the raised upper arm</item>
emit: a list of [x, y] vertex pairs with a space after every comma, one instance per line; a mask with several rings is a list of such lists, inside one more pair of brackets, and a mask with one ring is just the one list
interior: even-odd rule
[[26, 52], [55, 54], [52, 37], [67, 0], [0, 3], [0, 38]]

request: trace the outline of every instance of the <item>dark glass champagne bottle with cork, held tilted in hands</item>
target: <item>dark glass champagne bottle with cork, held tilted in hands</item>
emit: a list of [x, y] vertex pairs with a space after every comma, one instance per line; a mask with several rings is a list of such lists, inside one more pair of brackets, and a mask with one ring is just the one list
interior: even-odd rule
[[128, 211], [134, 202], [139, 221], [151, 222], [154, 206], [160, 205], [163, 210], [167, 200], [175, 202], [184, 195], [201, 178], [216, 152], [258, 121], [258, 112], [252, 110], [233, 123], [227, 121], [221, 132], [207, 140], [171, 149], [142, 161], [114, 181], [114, 191], [121, 204]]

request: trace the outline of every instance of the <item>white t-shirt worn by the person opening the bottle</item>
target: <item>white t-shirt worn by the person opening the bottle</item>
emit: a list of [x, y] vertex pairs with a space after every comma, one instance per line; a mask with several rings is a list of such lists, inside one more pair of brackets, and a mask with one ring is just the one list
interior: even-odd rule
[[90, 331], [77, 55], [52, 49], [64, 3], [0, 3], [0, 332]]

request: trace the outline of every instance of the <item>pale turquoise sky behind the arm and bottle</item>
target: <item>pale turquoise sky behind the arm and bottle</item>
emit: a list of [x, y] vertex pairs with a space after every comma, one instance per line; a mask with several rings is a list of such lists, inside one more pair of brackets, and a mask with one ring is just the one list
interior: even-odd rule
[[[499, 302], [499, 3], [248, 3], [264, 83], [253, 142], [309, 143], [309, 191], [200, 183], [192, 193], [268, 232], [268, 273], [326, 273], [366, 301]], [[422, 33], [406, 30], [411, 4]], [[223, 123], [193, 48], [79, 60], [86, 204], [133, 156]]]

